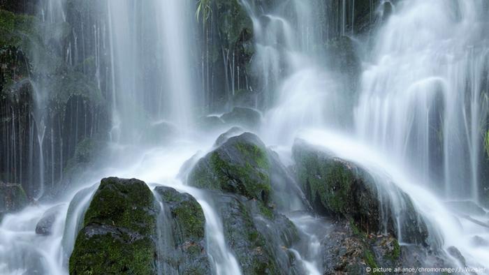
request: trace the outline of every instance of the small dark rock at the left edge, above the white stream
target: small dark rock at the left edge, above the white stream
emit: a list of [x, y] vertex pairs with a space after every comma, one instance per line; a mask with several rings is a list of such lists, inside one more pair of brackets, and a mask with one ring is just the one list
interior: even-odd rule
[[28, 204], [29, 200], [20, 184], [0, 181], [0, 214], [19, 211]]

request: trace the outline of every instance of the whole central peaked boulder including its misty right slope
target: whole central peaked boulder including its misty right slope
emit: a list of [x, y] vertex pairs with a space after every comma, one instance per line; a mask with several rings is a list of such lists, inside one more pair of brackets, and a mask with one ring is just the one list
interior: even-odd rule
[[264, 205], [272, 203], [284, 211], [307, 205], [278, 155], [254, 134], [237, 135], [241, 131], [231, 128], [218, 137], [216, 149], [197, 161], [189, 172], [189, 184], [243, 195]]

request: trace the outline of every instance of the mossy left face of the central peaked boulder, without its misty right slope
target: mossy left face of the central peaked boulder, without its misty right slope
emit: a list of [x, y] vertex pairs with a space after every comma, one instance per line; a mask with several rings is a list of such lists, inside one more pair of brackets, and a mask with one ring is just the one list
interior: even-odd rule
[[243, 133], [201, 158], [188, 181], [192, 186], [236, 193], [267, 204], [272, 189], [269, 172], [265, 145], [256, 135]]

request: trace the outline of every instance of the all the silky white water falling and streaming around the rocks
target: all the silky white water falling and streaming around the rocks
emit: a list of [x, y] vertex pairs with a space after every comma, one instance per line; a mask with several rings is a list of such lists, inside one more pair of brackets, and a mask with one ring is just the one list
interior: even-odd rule
[[[41, 202], [3, 218], [0, 273], [67, 274], [75, 236], [98, 186], [94, 183], [117, 176], [194, 195], [205, 214], [213, 272], [241, 274], [224, 239], [214, 202], [202, 191], [184, 186], [179, 176], [184, 162], [196, 153], [203, 156], [219, 135], [219, 131], [200, 133], [191, 127], [200, 115], [196, 110], [201, 97], [191, 68], [196, 62], [190, 54], [195, 51], [194, 1], [102, 2], [100, 17], [89, 29], [96, 40], [102, 40], [97, 40], [95, 51], [108, 49], [108, 61], [97, 55], [96, 78], [99, 86], [104, 82], [110, 86], [106, 95], [112, 113], [106, 148], [109, 157], [66, 198]], [[444, 203], [479, 202], [481, 198], [481, 158], [485, 154], [481, 128], [488, 114], [483, 94], [489, 57], [486, 4], [477, 0], [400, 1], [393, 15], [371, 34], [373, 45], [358, 43], [362, 73], [352, 99], [351, 91], [344, 91], [344, 79], [328, 65], [332, 57], [317, 47], [325, 42], [322, 22], [335, 16], [342, 22], [340, 33], [356, 41], [353, 15], [346, 17], [347, 6], [354, 6], [354, 1], [342, 1], [340, 16], [318, 8], [321, 1], [278, 2], [267, 9], [257, 1], [240, 1], [254, 27], [252, 67], [261, 76], [258, 87], [263, 101], [257, 107], [264, 110], [258, 135], [265, 144], [273, 145], [286, 165], [293, 164], [290, 151], [295, 137], [361, 165], [397, 202], [395, 211], [400, 213], [404, 206], [391, 184], [410, 196], [427, 221], [432, 246], [455, 246], [467, 265], [488, 267], [487, 249], [473, 242], [476, 236], [489, 239], [487, 229], [455, 218]], [[64, 1], [46, 3], [44, 20], [68, 20]], [[83, 43], [75, 39], [68, 45], [67, 58], [74, 59], [79, 50], [70, 49]], [[104, 66], [110, 72], [106, 80], [101, 73]], [[159, 133], [162, 126], [177, 131], [169, 138], [156, 135], [156, 143], [143, 135]], [[45, 128], [40, 119], [36, 127], [42, 168], [47, 159], [43, 158]], [[45, 182], [44, 169], [40, 171], [38, 196]], [[36, 235], [39, 218], [52, 207], [59, 207], [52, 234]], [[162, 204], [160, 207], [163, 209]], [[159, 220], [164, 220], [164, 211], [161, 213]], [[305, 244], [291, 248], [291, 253], [306, 274], [321, 274], [319, 238], [327, 232], [328, 221], [285, 214], [306, 236]], [[158, 227], [162, 232], [159, 241], [168, 239], [165, 225]], [[400, 242], [408, 245], [402, 237]], [[159, 267], [159, 271], [166, 273], [168, 267]]]

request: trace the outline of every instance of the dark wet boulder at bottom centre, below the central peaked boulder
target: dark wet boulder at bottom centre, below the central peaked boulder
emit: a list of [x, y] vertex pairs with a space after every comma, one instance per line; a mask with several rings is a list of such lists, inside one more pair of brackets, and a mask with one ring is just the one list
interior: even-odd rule
[[222, 218], [226, 244], [244, 274], [298, 274], [288, 248], [298, 231], [285, 216], [239, 195], [212, 195]]

